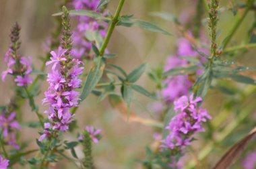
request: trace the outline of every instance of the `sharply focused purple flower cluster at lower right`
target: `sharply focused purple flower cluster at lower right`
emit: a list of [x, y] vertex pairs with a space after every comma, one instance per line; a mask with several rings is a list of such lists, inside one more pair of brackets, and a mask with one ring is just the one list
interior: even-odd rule
[[180, 97], [174, 101], [174, 111], [177, 113], [166, 129], [170, 130], [169, 135], [162, 140], [162, 148], [170, 148], [171, 150], [183, 150], [189, 145], [194, 133], [204, 131], [202, 124], [207, 119], [212, 119], [207, 114], [206, 109], [197, 107], [197, 103], [202, 101], [201, 97], [193, 98], [193, 94], [189, 97]]

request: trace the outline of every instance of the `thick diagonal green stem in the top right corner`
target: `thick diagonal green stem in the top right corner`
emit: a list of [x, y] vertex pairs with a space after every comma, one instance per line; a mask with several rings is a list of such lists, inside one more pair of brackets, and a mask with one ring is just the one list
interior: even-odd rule
[[248, 0], [247, 1], [247, 9], [245, 10], [245, 12], [243, 13], [243, 15], [240, 18], [236, 19], [236, 22], [234, 23], [234, 26], [230, 30], [231, 33], [229, 34], [229, 36], [226, 38], [225, 42], [223, 43], [223, 50], [226, 48], [226, 46], [228, 45], [228, 43], [230, 42], [230, 40], [234, 36], [234, 33], [236, 33], [236, 30], [238, 30], [238, 27], [241, 25], [241, 23], [245, 19], [245, 16], [247, 15], [249, 10], [251, 9], [251, 6], [253, 5], [253, 2], [254, 2], [254, 0]]

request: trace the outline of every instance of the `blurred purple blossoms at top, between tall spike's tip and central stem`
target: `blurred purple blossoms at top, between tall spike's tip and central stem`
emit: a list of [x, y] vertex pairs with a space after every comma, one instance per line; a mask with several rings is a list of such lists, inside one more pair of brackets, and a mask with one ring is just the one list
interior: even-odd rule
[[[73, 0], [73, 7], [76, 10], [91, 10], [95, 11], [100, 0]], [[104, 9], [98, 9], [96, 12], [104, 13]], [[82, 57], [91, 58], [92, 42], [85, 37], [86, 33], [98, 33], [102, 38], [106, 36], [107, 23], [98, 21], [92, 17], [78, 16], [78, 23], [76, 30], [73, 31], [73, 50], [72, 55], [78, 59]]]

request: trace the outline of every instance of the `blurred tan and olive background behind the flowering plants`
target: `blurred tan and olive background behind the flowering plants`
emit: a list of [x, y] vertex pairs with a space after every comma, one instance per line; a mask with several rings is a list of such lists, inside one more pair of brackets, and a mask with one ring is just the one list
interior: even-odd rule
[[[108, 10], [111, 13], [115, 12], [119, 1], [113, 0], [108, 5]], [[156, 23], [164, 30], [170, 32], [172, 36], [165, 36], [154, 32], [148, 32], [141, 30], [137, 27], [117, 27], [114, 31], [113, 37], [110, 39], [108, 50], [110, 53], [117, 54], [117, 58], [110, 59], [109, 62], [117, 64], [124, 68], [126, 72], [130, 72], [139, 64], [146, 62], [146, 72], [152, 68], [156, 68], [160, 64], [166, 62], [166, 57], [175, 54], [177, 49], [177, 39], [181, 38], [181, 34], [177, 29], [177, 26], [170, 22], [153, 17], [150, 13], [154, 11], [166, 11], [179, 17], [184, 27], [189, 30], [189, 27], [193, 25], [195, 19], [195, 7], [197, 1], [187, 0], [129, 0], [125, 1], [125, 5], [122, 14], [129, 15], [134, 14], [135, 18], [142, 19]], [[232, 1], [231, 1], [232, 2]], [[241, 1], [242, 2], [242, 1]], [[46, 51], [42, 47], [42, 44], [46, 41], [53, 32], [55, 24], [53, 13], [59, 11], [59, 0], [0, 0], [0, 72], [5, 70], [6, 65], [4, 60], [5, 52], [9, 45], [9, 32], [10, 28], [17, 21], [22, 27], [20, 38], [22, 40], [22, 46], [20, 54], [24, 56], [31, 56], [34, 68], [40, 68], [42, 62], [40, 56], [45, 56]], [[230, 5], [231, 4], [231, 5]], [[233, 21], [237, 16], [234, 16], [232, 10], [228, 7], [232, 6], [230, 1], [221, 1], [220, 7], [220, 21], [218, 25], [218, 43], [226, 37], [229, 30], [233, 25]], [[69, 9], [71, 7], [69, 6]], [[242, 40], [245, 40], [247, 32], [253, 24], [253, 12], [249, 13], [245, 18], [245, 21], [239, 27], [234, 38], [233, 44], [240, 44]], [[207, 15], [205, 14], [205, 17]], [[205, 32], [205, 38], [207, 39], [207, 26], [206, 19], [203, 22], [203, 32]], [[72, 20], [72, 26], [75, 27], [75, 21]], [[231, 43], [231, 44], [232, 44]], [[250, 52], [243, 52], [237, 57], [239, 64], [255, 67], [255, 50], [251, 49]], [[231, 58], [231, 59], [234, 59]], [[138, 84], [148, 89], [148, 91], [154, 91], [156, 86], [147, 73], [144, 73], [142, 78], [139, 79]], [[13, 79], [11, 76], [7, 76], [5, 82], [0, 82], [0, 105], [7, 105], [14, 95], [12, 88]], [[254, 87], [245, 88], [247, 86], [241, 84], [228, 83], [230, 87], [236, 85], [243, 93], [243, 89], [248, 89], [250, 92], [255, 92]], [[41, 101], [44, 98], [44, 91], [46, 91], [48, 84], [44, 81], [40, 83], [40, 95], [36, 97], [37, 105], [41, 105]], [[204, 107], [206, 107], [210, 114], [214, 117], [215, 121], [218, 121], [218, 115], [223, 109], [226, 110], [225, 103], [237, 99], [222, 94], [220, 91], [211, 90], [208, 93]], [[255, 95], [250, 99], [245, 99], [245, 104], [250, 104], [254, 101]], [[148, 105], [152, 100], [135, 93], [132, 101], [132, 109], [141, 117], [155, 118], [155, 115], [148, 111]], [[236, 103], [234, 101], [234, 103]], [[229, 105], [231, 108], [226, 114], [226, 119], [222, 123], [222, 128], [228, 123], [232, 123], [235, 119], [235, 109], [238, 111], [240, 108], [235, 108], [234, 104]], [[237, 105], [235, 105], [237, 106]], [[40, 106], [40, 112], [43, 112], [47, 107]], [[36, 115], [30, 111], [30, 107], [26, 102], [22, 107], [22, 114], [24, 121], [36, 120]], [[228, 118], [228, 116], [230, 116]], [[215, 118], [216, 117], [216, 118]], [[253, 117], [253, 113], [249, 113], [248, 117]], [[121, 119], [117, 112], [110, 107], [108, 99], [104, 99], [102, 102], [98, 102], [97, 98], [90, 95], [86, 101], [82, 103], [82, 106], [77, 111], [75, 118], [79, 129], [76, 129], [73, 135], [67, 134], [65, 137], [70, 140], [75, 139], [77, 132], [82, 131], [86, 125], [94, 125], [96, 128], [102, 129], [102, 139], [99, 144], [94, 144], [94, 160], [97, 168], [139, 168], [140, 164], [138, 160], [145, 158], [145, 147], [149, 146], [153, 139], [154, 131], [152, 127], [144, 126], [139, 123], [129, 123]], [[255, 118], [255, 117], [254, 117]], [[234, 142], [238, 141], [243, 135], [253, 126], [251, 120], [243, 120], [239, 127], [235, 127], [231, 133], [229, 133], [229, 139], [226, 140], [226, 145], [231, 146]], [[218, 123], [217, 123], [218, 125]], [[220, 125], [220, 124], [219, 124]], [[240, 132], [240, 135], [237, 133]], [[235, 135], [232, 133], [236, 133]], [[216, 132], [218, 136], [218, 132]], [[214, 137], [216, 136], [214, 135]], [[36, 148], [35, 137], [38, 138], [38, 129], [22, 127], [21, 138], [24, 140], [30, 140], [30, 148]], [[202, 135], [198, 136], [204, 137]], [[234, 137], [234, 138], [233, 138]], [[207, 139], [201, 145], [207, 144]], [[193, 143], [192, 157], [196, 158], [198, 152], [202, 149], [199, 146], [199, 142]], [[212, 150], [212, 154], [209, 158], [204, 159], [203, 165], [212, 166], [219, 157], [225, 152], [222, 146], [216, 146], [216, 149]], [[77, 149], [79, 156], [82, 156], [81, 150]], [[190, 154], [191, 155], [191, 154]], [[190, 156], [187, 155], [187, 156]], [[194, 159], [196, 160], [196, 159]], [[71, 168], [72, 166], [65, 166], [65, 161], [58, 164], [53, 168]], [[71, 165], [71, 164], [70, 164]], [[240, 168], [237, 164], [234, 166]]]

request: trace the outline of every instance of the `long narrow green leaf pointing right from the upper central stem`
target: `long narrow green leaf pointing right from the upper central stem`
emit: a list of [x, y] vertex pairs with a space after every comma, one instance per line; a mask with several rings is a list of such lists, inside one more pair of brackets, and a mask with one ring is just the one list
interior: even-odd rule
[[139, 21], [139, 20], [133, 20], [133, 19], [126, 19], [121, 17], [117, 25], [123, 25], [126, 27], [131, 27], [131, 26], [137, 26], [140, 27], [143, 30], [149, 30], [152, 32], [158, 32], [161, 34], [165, 34], [170, 36], [171, 34], [169, 32], [166, 32], [165, 30], [162, 30], [162, 28], [158, 27], [157, 25], [154, 25], [153, 23], [150, 23], [148, 21]]

